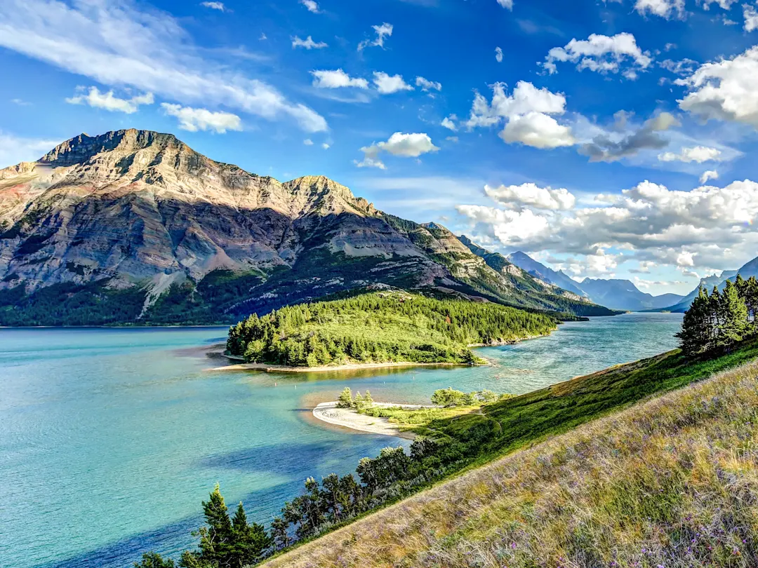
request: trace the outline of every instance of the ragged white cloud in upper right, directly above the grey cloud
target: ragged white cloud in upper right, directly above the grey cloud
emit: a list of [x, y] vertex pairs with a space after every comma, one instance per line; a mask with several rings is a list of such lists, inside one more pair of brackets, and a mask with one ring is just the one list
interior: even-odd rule
[[570, 61], [578, 70], [589, 69], [597, 73], [619, 73], [622, 64], [631, 61], [634, 67], [625, 70], [629, 79], [636, 78], [637, 70], [650, 67], [653, 62], [649, 51], [642, 51], [631, 33], [603, 36], [593, 33], [588, 39], [572, 39], [563, 47], [548, 51], [542, 67], [548, 73], [556, 73], [559, 62]]

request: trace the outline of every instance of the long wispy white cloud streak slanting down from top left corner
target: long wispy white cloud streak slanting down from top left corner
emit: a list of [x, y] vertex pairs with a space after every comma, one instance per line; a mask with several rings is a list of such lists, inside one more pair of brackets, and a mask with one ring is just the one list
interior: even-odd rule
[[[140, 5], [142, 6], [142, 5]], [[273, 86], [208, 59], [177, 19], [131, 2], [0, 2], [0, 46], [108, 86], [130, 86], [183, 105], [224, 105], [266, 120], [290, 117], [327, 130], [324, 117]]]

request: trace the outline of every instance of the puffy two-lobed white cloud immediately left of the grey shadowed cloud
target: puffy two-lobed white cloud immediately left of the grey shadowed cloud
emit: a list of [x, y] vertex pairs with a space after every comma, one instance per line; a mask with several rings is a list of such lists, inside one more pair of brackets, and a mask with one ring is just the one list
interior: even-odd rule
[[576, 143], [572, 131], [550, 116], [565, 113], [565, 96], [548, 89], [537, 89], [532, 83], [519, 81], [511, 95], [505, 85], [493, 85], [491, 103], [475, 93], [471, 114], [466, 121], [469, 130], [477, 126], [493, 126], [503, 121], [500, 132], [505, 142], [519, 142], [534, 148], [558, 148]]

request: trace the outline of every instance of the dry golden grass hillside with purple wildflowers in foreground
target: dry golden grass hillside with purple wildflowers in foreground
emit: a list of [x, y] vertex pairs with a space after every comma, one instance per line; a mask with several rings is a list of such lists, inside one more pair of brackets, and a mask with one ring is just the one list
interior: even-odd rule
[[518, 451], [265, 566], [758, 566], [758, 363]]

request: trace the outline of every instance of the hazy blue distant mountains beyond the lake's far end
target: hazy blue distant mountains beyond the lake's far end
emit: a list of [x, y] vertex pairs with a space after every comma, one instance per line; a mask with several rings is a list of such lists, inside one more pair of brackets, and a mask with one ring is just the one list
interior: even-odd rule
[[509, 254], [508, 260], [543, 282], [559, 286], [595, 304], [608, 306], [614, 310], [659, 310], [682, 299], [681, 295], [677, 294], [653, 296], [641, 292], [629, 280], [587, 278], [582, 282], [577, 282], [562, 270], [556, 271], [546, 267], [522, 251]]

